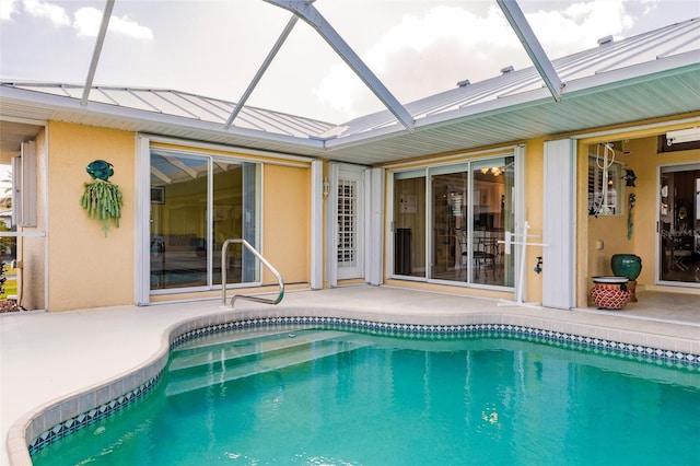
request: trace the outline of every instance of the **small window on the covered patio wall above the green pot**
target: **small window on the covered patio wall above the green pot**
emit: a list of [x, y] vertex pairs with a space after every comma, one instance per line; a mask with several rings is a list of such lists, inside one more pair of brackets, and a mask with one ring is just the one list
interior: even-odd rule
[[621, 215], [623, 164], [615, 161], [615, 150], [597, 144], [588, 155], [588, 214]]

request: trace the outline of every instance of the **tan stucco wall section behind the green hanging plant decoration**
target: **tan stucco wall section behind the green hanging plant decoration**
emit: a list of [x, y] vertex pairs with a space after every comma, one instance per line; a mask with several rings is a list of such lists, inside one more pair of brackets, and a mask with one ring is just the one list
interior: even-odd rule
[[[48, 126], [48, 311], [133, 303], [133, 133], [50, 121]], [[114, 165], [121, 189], [119, 228], [105, 237], [80, 207], [88, 164]]]

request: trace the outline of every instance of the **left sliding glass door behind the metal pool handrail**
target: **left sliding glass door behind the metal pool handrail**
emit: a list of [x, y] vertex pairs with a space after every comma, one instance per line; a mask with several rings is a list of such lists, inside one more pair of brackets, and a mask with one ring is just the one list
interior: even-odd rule
[[[151, 149], [151, 290], [221, 286], [221, 246], [258, 235], [259, 166]], [[256, 281], [257, 266], [232, 245], [231, 283]]]

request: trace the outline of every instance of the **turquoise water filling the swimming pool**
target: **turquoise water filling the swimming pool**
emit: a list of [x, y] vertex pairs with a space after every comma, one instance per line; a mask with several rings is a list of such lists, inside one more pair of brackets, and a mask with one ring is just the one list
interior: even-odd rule
[[515, 338], [211, 335], [36, 465], [697, 465], [700, 374]]

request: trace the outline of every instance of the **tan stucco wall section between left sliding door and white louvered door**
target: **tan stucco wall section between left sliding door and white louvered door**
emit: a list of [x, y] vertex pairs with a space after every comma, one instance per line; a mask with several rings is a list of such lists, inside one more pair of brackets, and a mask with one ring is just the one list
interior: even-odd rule
[[[288, 283], [311, 280], [311, 170], [265, 165], [262, 255]], [[264, 283], [276, 283], [266, 269]]]

